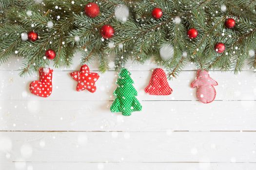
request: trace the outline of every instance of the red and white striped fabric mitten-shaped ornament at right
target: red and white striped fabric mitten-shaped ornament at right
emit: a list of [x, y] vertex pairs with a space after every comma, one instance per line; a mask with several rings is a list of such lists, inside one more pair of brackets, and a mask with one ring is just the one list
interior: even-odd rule
[[214, 85], [218, 83], [213, 80], [208, 71], [198, 70], [197, 78], [191, 83], [191, 87], [197, 87], [197, 99], [203, 103], [213, 102], [216, 97]]

